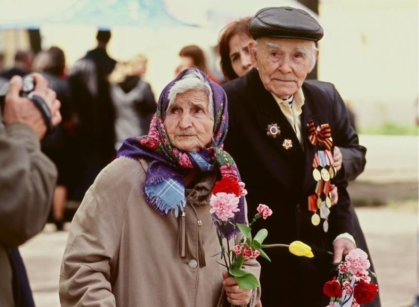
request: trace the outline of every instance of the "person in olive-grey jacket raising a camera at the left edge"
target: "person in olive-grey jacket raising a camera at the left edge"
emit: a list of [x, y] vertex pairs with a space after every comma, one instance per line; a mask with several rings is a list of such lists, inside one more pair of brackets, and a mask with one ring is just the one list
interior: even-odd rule
[[[61, 120], [60, 102], [47, 80], [34, 75], [35, 94], [51, 122]], [[19, 96], [22, 78], [13, 77], [0, 110], [0, 306], [35, 307], [18, 246], [40, 232], [47, 220], [57, 179], [54, 163], [41, 152], [46, 124], [35, 104]], [[1, 114], [3, 112], [3, 114]]]

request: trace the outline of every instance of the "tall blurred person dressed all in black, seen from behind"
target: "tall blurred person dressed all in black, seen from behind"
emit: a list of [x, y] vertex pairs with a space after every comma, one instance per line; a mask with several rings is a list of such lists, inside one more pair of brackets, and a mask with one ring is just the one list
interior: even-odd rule
[[116, 61], [106, 52], [110, 31], [98, 31], [98, 46], [76, 61], [70, 74], [71, 101], [76, 115], [76, 142], [81, 178], [73, 197], [81, 200], [96, 176], [115, 157], [115, 111], [109, 75]]

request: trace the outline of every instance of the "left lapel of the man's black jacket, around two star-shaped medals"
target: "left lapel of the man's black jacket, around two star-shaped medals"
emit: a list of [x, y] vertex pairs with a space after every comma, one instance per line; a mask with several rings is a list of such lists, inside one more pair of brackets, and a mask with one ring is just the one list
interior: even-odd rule
[[[256, 76], [254, 74], [256, 74]], [[272, 94], [264, 88], [257, 70], [254, 70], [252, 75], [252, 81], [256, 83], [258, 89], [256, 91], [258, 96], [256, 97], [257, 110], [255, 110], [255, 117], [260, 127], [265, 131], [265, 137], [269, 139], [268, 142], [273, 143], [278, 148], [279, 152], [286, 159], [293, 164], [301, 166], [304, 152], [294, 129], [286, 119], [285, 115], [283, 115]], [[280, 133], [277, 134], [275, 138], [273, 135], [268, 135], [268, 125], [272, 124], [277, 124], [280, 130]], [[285, 139], [291, 140], [291, 148], [285, 149], [282, 146]]]

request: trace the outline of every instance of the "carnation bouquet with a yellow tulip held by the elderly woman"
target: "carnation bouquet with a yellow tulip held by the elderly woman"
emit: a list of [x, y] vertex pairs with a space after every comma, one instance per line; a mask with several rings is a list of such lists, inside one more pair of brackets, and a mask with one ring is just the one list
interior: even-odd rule
[[[234, 217], [235, 213], [240, 210], [238, 208], [239, 199], [246, 193], [244, 183], [238, 182], [232, 178], [222, 178], [215, 183], [210, 199], [210, 213], [213, 214], [213, 220], [217, 226], [217, 235], [221, 251], [212, 257], [221, 255], [221, 260], [224, 263], [219, 264], [223, 265], [231, 276], [234, 276], [241, 289], [253, 289], [259, 286], [258, 280], [253, 274], [244, 271], [242, 265], [244, 261], [250, 257], [257, 258], [258, 256], [262, 256], [271, 261], [262, 248], [288, 247], [289, 251], [297, 256], [314, 257], [314, 255], [310, 246], [299, 241], [292, 242], [289, 245], [263, 245], [262, 243], [268, 235], [266, 229], [261, 229], [254, 237], [252, 236], [251, 226], [253, 223], [259, 218], [266, 219], [272, 215], [272, 210], [264, 204], [258, 206], [258, 213], [254, 216], [248, 226], [236, 223]], [[229, 232], [227, 229], [233, 231]], [[237, 234], [241, 232], [243, 235], [239, 243], [232, 247], [230, 246], [231, 237], [228, 235], [228, 233], [231, 232], [234, 233], [235, 242], [237, 242]], [[227, 248], [223, 243], [223, 239], [227, 239]]]

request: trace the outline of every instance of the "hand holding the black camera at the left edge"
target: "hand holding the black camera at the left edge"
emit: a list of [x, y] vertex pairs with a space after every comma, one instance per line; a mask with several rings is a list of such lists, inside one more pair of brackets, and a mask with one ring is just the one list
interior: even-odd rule
[[[48, 88], [48, 81], [39, 74], [34, 74], [35, 95], [41, 97], [51, 112], [51, 121], [55, 126], [61, 122], [61, 103], [57, 100], [56, 93]], [[28, 98], [20, 97], [19, 91], [22, 88], [22, 78], [14, 76], [9, 83], [9, 91], [4, 100], [4, 124], [13, 122], [24, 123], [34, 130], [39, 139], [42, 139], [46, 132], [45, 121], [34, 103]]]

